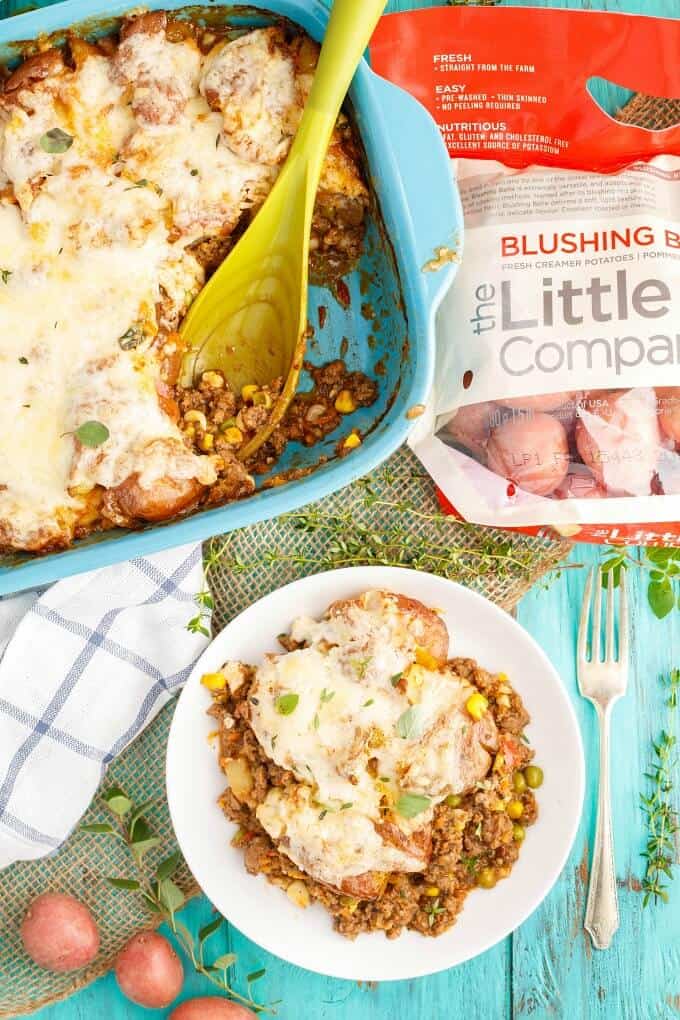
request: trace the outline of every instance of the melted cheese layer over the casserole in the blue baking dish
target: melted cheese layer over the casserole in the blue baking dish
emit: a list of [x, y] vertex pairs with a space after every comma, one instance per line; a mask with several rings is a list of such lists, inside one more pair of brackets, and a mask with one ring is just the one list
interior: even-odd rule
[[[68, 544], [87, 493], [132, 474], [215, 480], [159, 406], [154, 338], [203, 285], [188, 247], [259, 205], [290, 146], [293, 62], [266, 39], [205, 58], [133, 32], [113, 57], [0, 94], [0, 546]], [[227, 114], [204, 98], [216, 76]], [[46, 151], [55, 129], [64, 152]], [[130, 327], [144, 340], [122, 350]], [[73, 436], [88, 420], [110, 434], [94, 450]]]

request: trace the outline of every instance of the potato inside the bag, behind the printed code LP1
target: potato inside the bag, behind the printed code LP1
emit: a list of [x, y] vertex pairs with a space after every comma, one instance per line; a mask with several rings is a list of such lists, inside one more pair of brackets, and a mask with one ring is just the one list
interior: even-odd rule
[[550, 496], [569, 468], [564, 426], [542, 412], [504, 421], [486, 447], [488, 467], [527, 493]]

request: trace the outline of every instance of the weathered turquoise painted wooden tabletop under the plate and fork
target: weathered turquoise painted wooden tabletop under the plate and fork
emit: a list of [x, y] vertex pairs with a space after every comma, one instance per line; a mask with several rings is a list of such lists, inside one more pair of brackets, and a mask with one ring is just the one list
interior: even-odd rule
[[[680, 0], [540, 0], [522, 6], [599, 7], [680, 17]], [[393, 0], [390, 10], [437, 6], [436, 0]], [[2, 8], [0, 4], [0, 9]], [[6, 7], [18, 9], [21, 0]], [[595, 562], [598, 552], [579, 546], [574, 563]], [[266, 968], [254, 986], [260, 1001], [280, 999], [280, 1020], [672, 1020], [680, 1016], [680, 880], [666, 906], [642, 908], [639, 880], [644, 843], [638, 799], [650, 741], [659, 735], [663, 697], [658, 677], [680, 666], [680, 617], [660, 622], [646, 603], [644, 577], [631, 578], [633, 672], [629, 695], [614, 719], [614, 803], [621, 929], [613, 948], [593, 952], [582, 930], [588, 857], [592, 846], [597, 735], [594, 715], [576, 692], [574, 648], [585, 569], [569, 569], [547, 589], [538, 584], [519, 608], [519, 620], [538, 640], [574, 699], [587, 753], [588, 793], [574, 851], [547, 900], [522, 927], [471, 963], [435, 977], [379, 986], [310, 974], [262, 952], [238, 931], [223, 936], [223, 952], [239, 955], [239, 985]], [[211, 918], [198, 900], [182, 919], [196, 931]], [[190, 976], [184, 998], [209, 994]], [[126, 1002], [109, 975], [67, 1002], [36, 1014], [40, 1020], [154, 1020], [166, 1012]]]

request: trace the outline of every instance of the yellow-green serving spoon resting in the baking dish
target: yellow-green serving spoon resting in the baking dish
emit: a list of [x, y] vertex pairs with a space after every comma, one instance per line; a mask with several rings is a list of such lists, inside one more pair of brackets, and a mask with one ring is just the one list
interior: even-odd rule
[[287, 161], [252, 225], [185, 319], [181, 381], [219, 368], [239, 392], [282, 376], [267, 425], [240, 451], [246, 460], [281, 420], [306, 346], [309, 239], [321, 168], [343, 100], [386, 0], [334, 0], [312, 91]]

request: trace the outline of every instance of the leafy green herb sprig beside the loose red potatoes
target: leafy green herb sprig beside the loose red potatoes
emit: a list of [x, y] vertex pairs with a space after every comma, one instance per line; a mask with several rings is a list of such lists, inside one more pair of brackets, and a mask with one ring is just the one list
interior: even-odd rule
[[177, 911], [181, 910], [186, 904], [185, 894], [173, 881], [173, 876], [181, 860], [179, 851], [161, 861], [153, 875], [149, 874], [146, 868], [146, 855], [160, 844], [160, 839], [144, 817], [145, 812], [149, 810], [153, 802], [148, 801], [145, 804], [136, 805], [119, 786], [111, 786], [102, 799], [111, 814], [111, 821], [83, 825], [81, 826], [82, 831], [121, 840], [128, 849], [135, 865], [134, 877], [109, 876], [107, 881], [115, 889], [140, 894], [149, 911], [159, 915], [169, 925], [198, 974], [205, 977], [229, 999], [248, 1006], [256, 1013], [275, 1015], [276, 1011], [273, 1006], [276, 1004], [260, 1006], [250, 994], [251, 983], [262, 977], [265, 973], [264, 970], [248, 975], [246, 980], [249, 993], [242, 996], [231, 987], [228, 980], [228, 972], [237, 963], [236, 954], [225, 953], [213, 960], [212, 963], [206, 962], [205, 949], [208, 939], [223, 924], [226, 924], [221, 915], [201, 928], [196, 938], [187, 925], [177, 918]]

